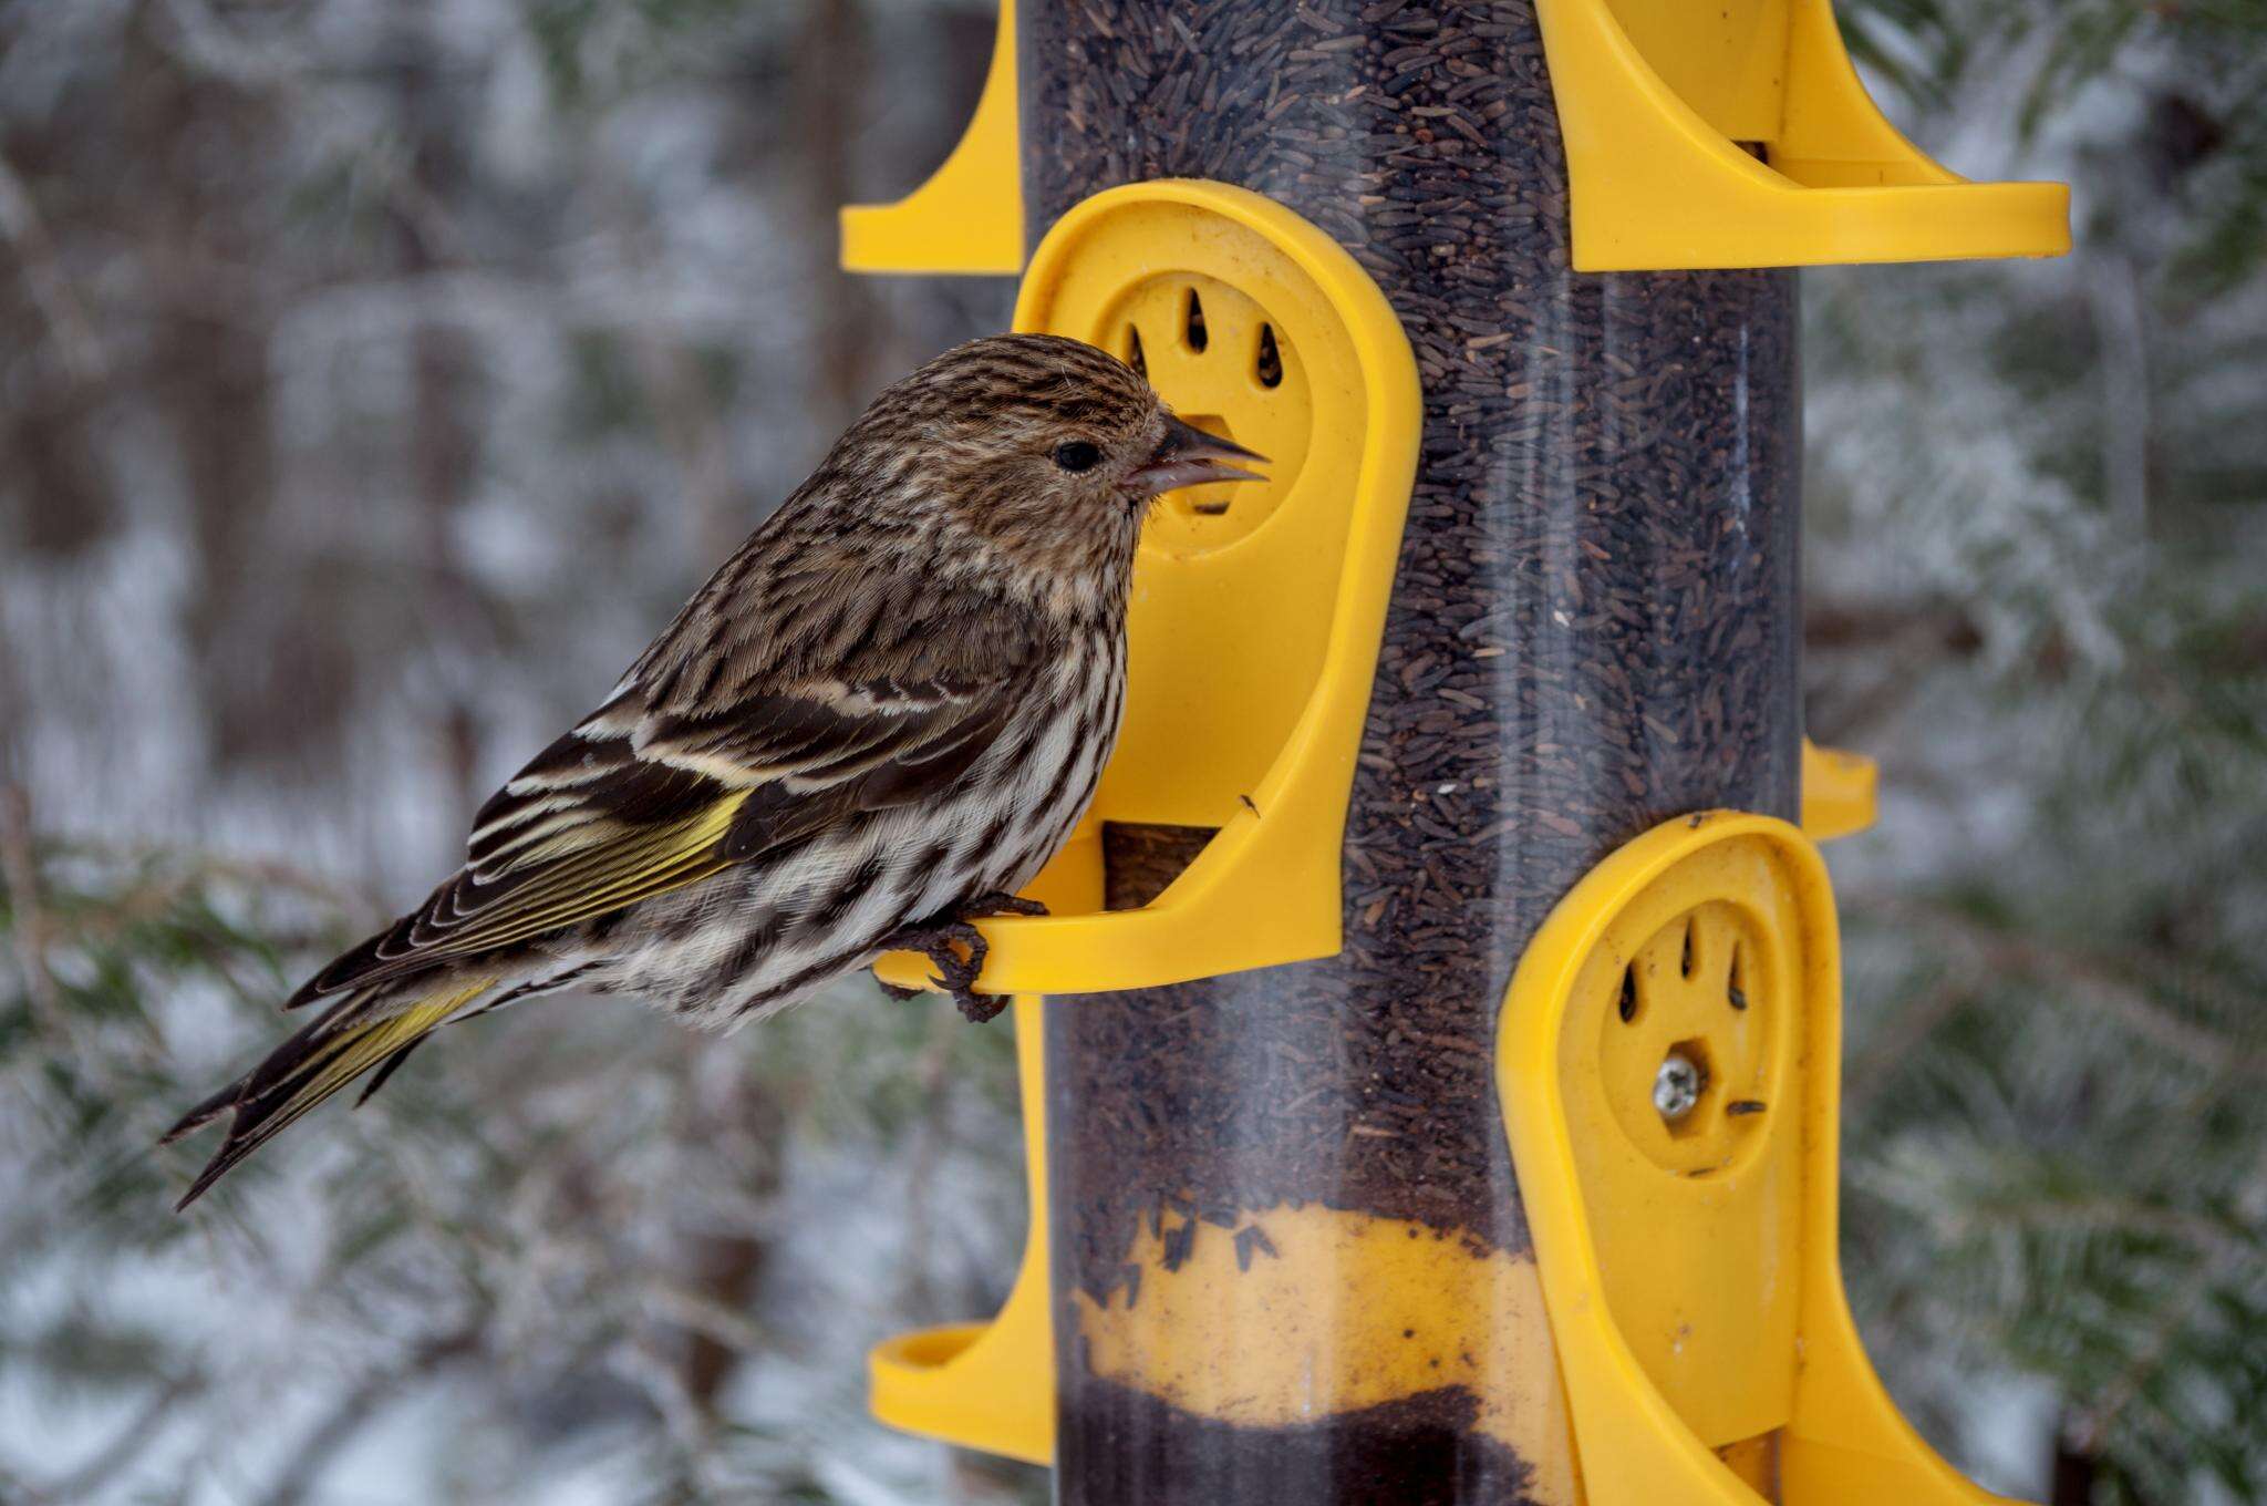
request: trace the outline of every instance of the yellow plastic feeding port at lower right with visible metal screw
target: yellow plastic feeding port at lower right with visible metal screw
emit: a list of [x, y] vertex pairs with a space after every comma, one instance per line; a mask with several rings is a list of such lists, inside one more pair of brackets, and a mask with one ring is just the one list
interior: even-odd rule
[[1897, 1415], [1843, 1297], [1841, 950], [1800, 830], [1684, 817], [1598, 864], [1519, 962], [1496, 1075], [1589, 1506], [1999, 1499]]

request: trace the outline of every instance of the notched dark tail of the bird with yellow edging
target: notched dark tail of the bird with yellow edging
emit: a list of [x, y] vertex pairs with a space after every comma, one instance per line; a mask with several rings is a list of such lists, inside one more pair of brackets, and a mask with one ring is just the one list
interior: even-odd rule
[[[456, 1018], [465, 1005], [494, 987], [494, 978], [388, 982], [358, 993], [349, 993], [324, 1009], [304, 1030], [277, 1046], [265, 1061], [220, 1089], [165, 1132], [159, 1141], [172, 1141], [234, 1111], [229, 1136], [204, 1164], [197, 1179], [172, 1204], [179, 1213], [204, 1195], [204, 1188], [220, 1182], [238, 1161], [274, 1139], [286, 1125], [320, 1105], [324, 1098], [347, 1086], [372, 1066], [379, 1075], [363, 1089], [363, 1098], [379, 1091], [379, 1084], [401, 1066], [419, 1041], [433, 1030]], [[426, 984], [419, 989], [419, 984]]]

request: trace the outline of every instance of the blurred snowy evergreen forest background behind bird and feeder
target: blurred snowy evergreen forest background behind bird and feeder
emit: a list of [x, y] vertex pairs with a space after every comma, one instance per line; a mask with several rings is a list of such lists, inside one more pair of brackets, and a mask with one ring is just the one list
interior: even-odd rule
[[[2056, 263], [1809, 311], [1845, 1259], [1986, 1481], [2267, 1495], [2267, 7], [1843, 0]], [[986, 1313], [1009, 1032], [562, 1002], [193, 1220], [150, 1143], [424, 891], [882, 381], [850, 281], [982, 79], [945, 0], [0, 5], [0, 1499], [1038, 1501], [861, 1356]], [[476, 1046], [476, 1050], [472, 1050]]]

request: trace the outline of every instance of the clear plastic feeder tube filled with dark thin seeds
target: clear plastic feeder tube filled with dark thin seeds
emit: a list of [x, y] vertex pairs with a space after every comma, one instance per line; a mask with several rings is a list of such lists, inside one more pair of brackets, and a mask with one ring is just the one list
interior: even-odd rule
[[[1378, 281], [1426, 392], [1344, 950], [1045, 1012], [1059, 1499], [1571, 1501], [1496, 1009], [1619, 844], [1795, 817], [1795, 279], [1569, 270], [1528, 5], [1027, 0], [1020, 68], [1034, 240], [1242, 184]], [[1113, 905], [1202, 841], [1106, 830]]]

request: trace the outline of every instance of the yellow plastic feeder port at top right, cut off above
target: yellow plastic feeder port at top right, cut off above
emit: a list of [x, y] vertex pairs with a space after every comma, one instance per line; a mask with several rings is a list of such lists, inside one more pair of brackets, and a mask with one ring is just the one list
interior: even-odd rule
[[1829, 0], [1537, 0], [1535, 11], [1578, 272], [2070, 249], [2068, 186], [1972, 184], [1882, 118]]

